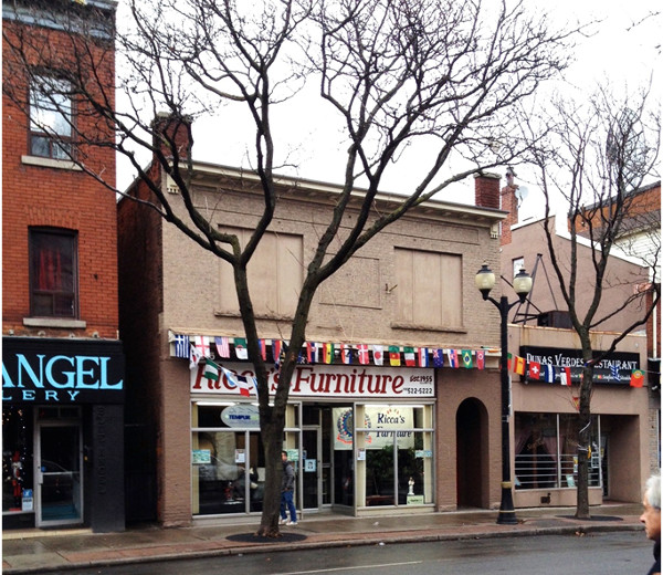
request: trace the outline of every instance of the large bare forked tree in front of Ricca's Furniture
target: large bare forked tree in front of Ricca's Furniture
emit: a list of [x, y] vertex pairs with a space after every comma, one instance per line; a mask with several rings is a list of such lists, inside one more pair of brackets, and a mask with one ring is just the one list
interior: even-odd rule
[[[263, 535], [278, 533], [288, 383], [319, 285], [410, 208], [470, 175], [516, 164], [529, 147], [512, 134], [518, 104], [566, 67], [578, 30], [552, 30], [545, 15], [528, 13], [524, 4], [505, 1], [488, 10], [481, 1], [453, 0], [128, 0], [128, 14], [115, 31], [116, 84], [96, 73], [98, 55], [93, 58], [80, 42], [96, 38], [95, 30], [76, 15], [77, 10], [94, 10], [92, 2], [56, 4], [65, 14], [59, 15], [61, 25], [72, 30], [65, 59], [53, 60], [39, 34], [23, 35], [13, 27], [3, 30], [10, 46], [6, 70], [17, 77], [4, 82], [6, 95], [25, 111], [25, 86], [43, 77], [34, 61], [39, 59], [40, 70], [56, 71], [66, 83], [49, 86], [51, 93], [66, 90], [80, 113], [98, 118], [99, 134], [107, 128], [117, 134], [109, 143], [95, 133], [77, 132], [73, 122], [76, 149], [71, 159], [122, 194], [103, 169], [85, 161], [86, 149], [113, 146], [149, 188], [150, 199], [141, 201], [232, 266], [249, 359], [257, 377], [266, 462], [259, 531]], [[113, 58], [110, 48], [106, 58]], [[313, 257], [303, 264], [304, 281], [270, 405], [246, 270], [278, 202], [275, 169], [288, 164], [288, 150], [281, 147], [284, 134], [274, 118], [286, 101], [311, 97], [301, 90], [311, 85], [318, 86], [320, 106], [326, 106], [320, 109], [336, 122], [347, 151], [338, 178], [341, 191]], [[53, 97], [51, 104], [56, 109], [60, 100]], [[160, 122], [152, 122], [162, 111], [170, 122], [166, 130]], [[197, 205], [190, 149], [191, 121], [200, 123], [217, 114], [239, 117], [241, 111], [246, 113], [243, 129], [253, 134], [248, 154], [264, 200], [245, 244], [235, 234], [219, 231], [213, 213]], [[187, 134], [183, 139], [181, 130]], [[53, 130], [49, 135], [59, 137]], [[188, 143], [183, 148], [182, 142]], [[320, 153], [320, 144], [301, 143], [314, 153]], [[409, 188], [400, 201], [378, 210], [378, 189], [410, 147], [420, 157], [418, 170], [410, 170]], [[140, 151], [152, 158], [147, 167]], [[156, 165], [172, 179], [177, 196], [167, 195], [155, 179]], [[359, 196], [358, 184], [364, 188]], [[344, 215], [350, 199], [354, 219], [348, 228]], [[186, 219], [178, 217], [179, 202], [186, 207]]]

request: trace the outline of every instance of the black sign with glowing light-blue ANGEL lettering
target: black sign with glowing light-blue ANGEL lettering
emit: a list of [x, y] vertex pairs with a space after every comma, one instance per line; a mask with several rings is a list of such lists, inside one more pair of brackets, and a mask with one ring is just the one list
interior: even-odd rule
[[122, 343], [3, 337], [2, 401], [122, 404]]

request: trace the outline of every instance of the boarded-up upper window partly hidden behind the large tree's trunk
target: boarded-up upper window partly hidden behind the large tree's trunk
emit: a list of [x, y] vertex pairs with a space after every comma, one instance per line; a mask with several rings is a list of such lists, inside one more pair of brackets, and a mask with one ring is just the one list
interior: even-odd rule
[[[223, 228], [245, 245], [252, 230]], [[295, 313], [303, 282], [302, 236], [266, 232], [249, 262], [249, 291], [259, 317], [291, 318]], [[232, 268], [220, 261], [219, 314], [238, 315], [240, 306]]]

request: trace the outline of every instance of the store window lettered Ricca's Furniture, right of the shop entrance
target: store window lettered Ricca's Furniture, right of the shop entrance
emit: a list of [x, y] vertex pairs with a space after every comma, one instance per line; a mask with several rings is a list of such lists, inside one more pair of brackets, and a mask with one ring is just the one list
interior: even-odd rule
[[433, 503], [432, 407], [365, 405], [356, 414], [357, 503]]

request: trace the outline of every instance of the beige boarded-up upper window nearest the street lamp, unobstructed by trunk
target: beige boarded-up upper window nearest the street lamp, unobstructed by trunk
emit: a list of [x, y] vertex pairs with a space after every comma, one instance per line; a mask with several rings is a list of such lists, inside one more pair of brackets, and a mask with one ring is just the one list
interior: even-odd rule
[[462, 328], [460, 255], [397, 248], [396, 278], [396, 327]]

